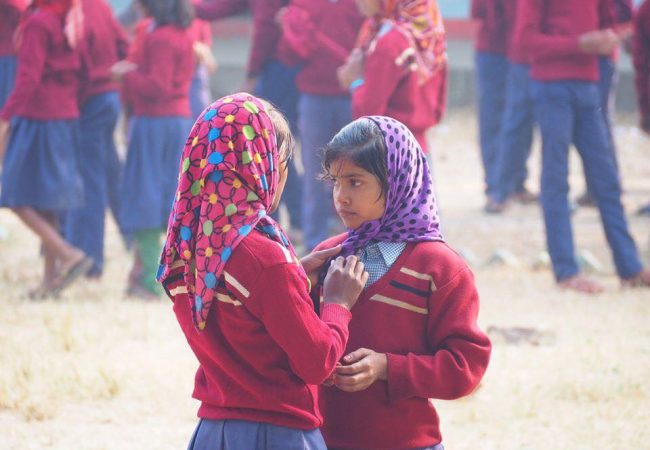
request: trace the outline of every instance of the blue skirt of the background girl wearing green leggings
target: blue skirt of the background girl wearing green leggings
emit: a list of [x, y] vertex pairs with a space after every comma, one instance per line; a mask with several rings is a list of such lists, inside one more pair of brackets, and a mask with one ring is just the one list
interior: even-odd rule
[[167, 227], [190, 127], [187, 117], [131, 119], [118, 214], [123, 232]]

